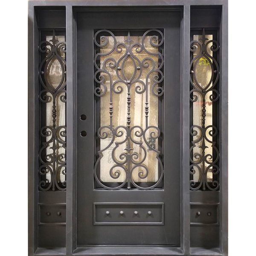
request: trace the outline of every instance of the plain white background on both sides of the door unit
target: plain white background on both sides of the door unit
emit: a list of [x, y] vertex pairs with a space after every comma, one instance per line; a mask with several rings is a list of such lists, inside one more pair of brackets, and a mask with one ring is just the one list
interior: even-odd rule
[[[230, 256], [256, 255], [255, 2], [229, 3]], [[26, 256], [26, 0], [1, 1], [0, 28], [0, 254]]]

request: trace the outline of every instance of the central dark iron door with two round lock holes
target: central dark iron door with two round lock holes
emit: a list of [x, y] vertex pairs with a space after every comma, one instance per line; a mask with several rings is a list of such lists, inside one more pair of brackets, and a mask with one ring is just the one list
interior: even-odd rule
[[77, 245], [180, 245], [179, 10], [76, 13]]

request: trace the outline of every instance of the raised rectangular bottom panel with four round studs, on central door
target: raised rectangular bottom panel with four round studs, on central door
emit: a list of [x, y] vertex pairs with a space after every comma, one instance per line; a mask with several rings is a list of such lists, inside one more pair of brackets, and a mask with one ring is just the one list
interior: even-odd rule
[[163, 203], [93, 203], [94, 225], [163, 225]]

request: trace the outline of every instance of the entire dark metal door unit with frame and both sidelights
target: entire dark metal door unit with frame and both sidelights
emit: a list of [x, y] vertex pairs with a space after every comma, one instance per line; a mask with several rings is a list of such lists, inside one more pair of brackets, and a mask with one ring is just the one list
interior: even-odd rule
[[[122, 132], [112, 123], [100, 131], [110, 42], [134, 63], [128, 79], [125, 64], [108, 57], [111, 75], [125, 77], [124, 92], [152, 85], [142, 79], [149, 64], [140, 47], [148, 62], [157, 55], [150, 135], [132, 120], [128, 89]], [[28, 70], [29, 256], [227, 256], [227, 0], [29, 1]], [[107, 103], [102, 113], [112, 120], [116, 105]], [[151, 120], [153, 105], [143, 104], [142, 118]], [[118, 147], [125, 132], [119, 161], [112, 153], [118, 168], [103, 177], [101, 143], [113, 138]], [[150, 151], [157, 167], [147, 182]]]

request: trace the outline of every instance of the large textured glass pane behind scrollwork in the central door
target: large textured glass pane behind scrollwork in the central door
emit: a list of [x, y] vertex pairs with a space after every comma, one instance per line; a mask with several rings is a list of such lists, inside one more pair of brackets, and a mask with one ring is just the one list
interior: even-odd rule
[[163, 34], [157, 29], [131, 33], [115, 36], [104, 30], [95, 36], [95, 94], [100, 98], [95, 174], [105, 188], [111, 186], [106, 183], [154, 188], [163, 176]]

